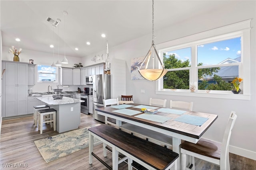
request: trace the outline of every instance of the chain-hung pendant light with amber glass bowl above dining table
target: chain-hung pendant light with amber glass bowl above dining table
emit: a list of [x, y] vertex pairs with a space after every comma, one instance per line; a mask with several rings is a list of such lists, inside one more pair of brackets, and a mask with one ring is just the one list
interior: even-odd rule
[[[154, 66], [154, 64], [155, 64], [154, 56], [156, 56], [156, 58], [160, 62], [160, 65], [162, 67], [161, 69], [154, 68], [155, 67]], [[152, 68], [148, 68], [151, 57], [152, 57], [152, 61], [151, 61]], [[145, 63], [145, 61], [146, 61], [146, 63]], [[167, 72], [167, 69], [164, 69], [164, 64], [162, 63], [160, 57], [158, 56], [158, 53], [156, 51], [155, 44], [154, 44], [154, 0], [152, 0], [152, 45], [151, 45], [146, 57], [144, 58], [143, 62], [141, 63], [140, 67], [138, 67], [138, 71], [140, 72], [142, 77], [144, 77], [147, 80], [151, 80], [151, 81], [158, 80], [159, 78], [162, 78]]]

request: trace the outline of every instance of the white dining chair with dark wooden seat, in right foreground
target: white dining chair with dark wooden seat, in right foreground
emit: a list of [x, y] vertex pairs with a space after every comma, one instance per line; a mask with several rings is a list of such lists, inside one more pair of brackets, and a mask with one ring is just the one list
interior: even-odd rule
[[[221, 144], [206, 139], [200, 139], [196, 144], [187, 141], [182, 143], [180, 145], [182, 170], [195, 170], [194, 157], [216, 164], [221, 170], [230, 170], [228, 148], [236, 117], [236, 112], [231, 111]], [[188, 165], [192, 168], [186, 167], [187, 155], [191, 156]]]

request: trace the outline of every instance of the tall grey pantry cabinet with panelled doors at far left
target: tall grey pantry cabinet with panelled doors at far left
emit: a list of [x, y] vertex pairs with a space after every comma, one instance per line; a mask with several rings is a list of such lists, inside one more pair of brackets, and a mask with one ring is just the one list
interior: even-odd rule
[[5, 117], [28, 114], [28, 63], [2, 61]]

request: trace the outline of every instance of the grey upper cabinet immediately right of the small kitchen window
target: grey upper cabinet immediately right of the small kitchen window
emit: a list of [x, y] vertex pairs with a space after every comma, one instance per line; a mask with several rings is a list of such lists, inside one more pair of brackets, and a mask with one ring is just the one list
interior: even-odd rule
[[60, 85], [73, 85], [73, 69], [60, 67]]

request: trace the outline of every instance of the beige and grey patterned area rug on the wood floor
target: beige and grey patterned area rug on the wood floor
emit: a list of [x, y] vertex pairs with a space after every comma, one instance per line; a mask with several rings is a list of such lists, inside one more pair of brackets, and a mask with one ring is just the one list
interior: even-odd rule
[[[94, 125], [98, 126], [100, 124]], [[89, 131], [84, 127], [45, 139], [34, 141], [46, 163], [62, 158], [89, 146]], [[99, 142], [94, 138], [94, 143]]]

